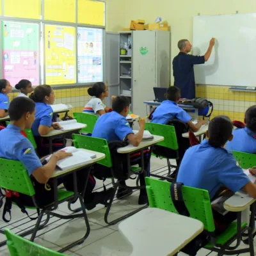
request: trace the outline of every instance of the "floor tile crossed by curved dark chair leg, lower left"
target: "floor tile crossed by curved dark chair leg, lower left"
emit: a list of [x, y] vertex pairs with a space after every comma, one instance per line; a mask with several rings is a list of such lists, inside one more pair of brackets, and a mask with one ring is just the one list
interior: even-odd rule
[[[80, 248], [87, 246], [88, 244], [94, 243], [95, 241], [101, 239], [102, 237], [108, 236], [109, 234], [115, 232], [110, 228], [102, 227], [95, 223], [90, 223], [91, 232], [88, 238], [83, 244], [79, 244], [70, 249], [71, 252], [76, 252]], [[83, 219], [77, 219], [70, 221], [60, 227], [51, 230], [45, 234], [42, 234], [40, 238], [45, 239], [54, 244], [58, 244], [60, 247], [65, 247], [67, 244], [76, 241], [77, 239], [84, 236], [86, 232], [86, 227]]]

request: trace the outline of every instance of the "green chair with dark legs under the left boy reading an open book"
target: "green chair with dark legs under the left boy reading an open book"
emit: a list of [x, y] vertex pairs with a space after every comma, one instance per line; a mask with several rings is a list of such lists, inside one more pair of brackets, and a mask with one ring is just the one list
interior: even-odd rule
[[[54, 183], [56, 183], [56, 187], [57, 187], [57, 185], [58, 185], [57, 182], [54, 182]], [[36, 202], [35, 189], [33, 187], [32, 181], [28, 175], [28, 171], [23, 166], [23, 164], [20, 163], [19, 161], [13, 161], [13, 160], [0, 158], [0, 188], [16, 191], [16, 192], [22, 193], [24, 195], [31, 196], [35, 207], [27, 207], [27, 208], [39, 209], [38, 204]], [[67, 202], [68, 200], [74, 201], [78, 197], [79, 202], [81, 204], [81, 208], [83, 210], [83, 214], [79, 214], [79, 218], [84, 218], [84, 220], [85, 220], [86, 234], [84, 235], [84, 237], [82, 237], [78, 241], [76, 241], [72, 244], [69, 244], [65, 248], [62, 248], [61, 252], [64, 252], [65, 250], [72, 248], [76, 244], [83, 243], [83, 241], [89, 236], [90, 225], [89, 225], [86, 211], [84, 208], [83, 197], [81, 195], [77, 195], [76, 189], [75, 189], [75, 192], [65, 191], [62, 189], [56, 189], [56, 190], [54, 189], [54, 193], [55, 193], [54, 198], [56, 198], [54, 203], [47, 205], [46, 207], [40, 209], [40, 214], [38, 215], [38, 219], [36, 221], [35, 227], [29, 229], [26, 232], [22, 232], [22, 234], [20, 234], [20, 236], [28, 236], [29, 234], [32, 233], [30, 240], [33, 242], [36, 237], [36, 232], [39, 229], [45, 227], [45, 225], [47, 225], [47, 223], [49, 222], [50, 216], [63, 218], [65, 220], [78, 218], [78, 216], [76, 214], [72, 214], [70, 216], [65, 216], [65, 215], [57, 214], [56, 212], [54, 212], [54, 210], [57, 209], [59, 204], [61, 204], [63, 202]], [[24, 205], [24, 206], [26, 207], [26, 205]], [[47, 218], [44, 221], [44, 223], [42, 223], [40, 225], [44, 214], [46, 214]], [[10, 223], [10, 225], [12, 225], [12, 223]], [[0, 232], [2, 234], [4, 233], [4, 231], [2, 229], [0, 230]], [[6, 241], [1, 242], [0, 247], [3, 246], [4, 244], [6, 244]]]

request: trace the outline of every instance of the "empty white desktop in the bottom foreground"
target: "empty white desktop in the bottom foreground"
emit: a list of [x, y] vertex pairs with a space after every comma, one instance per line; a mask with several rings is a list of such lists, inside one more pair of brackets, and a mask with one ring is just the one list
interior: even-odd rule
[[173, 212], [147, 208], [122, 221], [118, 230], [131, 243], [132, 256], [172, 256], [198, 236], [204, 225]]

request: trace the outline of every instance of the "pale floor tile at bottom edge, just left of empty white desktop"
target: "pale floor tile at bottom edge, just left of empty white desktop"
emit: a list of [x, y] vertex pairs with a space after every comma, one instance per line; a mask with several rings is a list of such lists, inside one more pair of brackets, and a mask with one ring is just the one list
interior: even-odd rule
[[119, 232], [115, 232], [76, 253], [86, 256], [129, 256], [131, 252], [131, 244]]

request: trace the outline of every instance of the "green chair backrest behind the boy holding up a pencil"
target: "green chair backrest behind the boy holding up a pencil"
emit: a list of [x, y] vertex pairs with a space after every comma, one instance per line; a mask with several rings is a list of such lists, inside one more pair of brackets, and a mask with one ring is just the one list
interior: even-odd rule
[[84, 136], [79, 134], [72, 134], [74, 146], [76, 148], [84, 148], [105, 154], [105, 158], [98, 163], [109, 168], [112, 167], [111, 154], [108, 147], [108, 141], [104, 139]]

